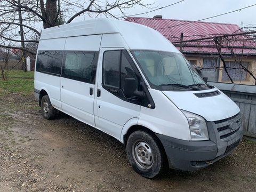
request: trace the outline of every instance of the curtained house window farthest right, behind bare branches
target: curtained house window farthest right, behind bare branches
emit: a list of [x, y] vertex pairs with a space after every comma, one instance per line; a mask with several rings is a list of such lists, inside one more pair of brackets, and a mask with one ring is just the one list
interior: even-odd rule
[[[242, 64], [243, 67], [248, 69], [249, 62], [241, 62], [241, 64]], [[235, 61], [227, 61], [226, 66], [227, 66], [228, 74], [230, 75], [230, 77], [234, 81], [241, 81], [241, 80], [246, 80], [247, 79], [247, 73], [242, 68], [242, 66], [239, 65], [239, 63], [237, 63]], [[223, 68], [222, 69], [222, 81], [229, 81], [229, 80], [230, 79], [229, 79], [225, 69]]]

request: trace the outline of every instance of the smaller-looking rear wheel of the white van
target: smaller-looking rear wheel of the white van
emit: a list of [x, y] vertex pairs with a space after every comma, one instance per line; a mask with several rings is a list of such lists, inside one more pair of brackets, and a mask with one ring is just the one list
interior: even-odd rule
[[45, 119], [53, 119], [57, 113], [57, 109], [52, 107], [52, 103], [48, 95], [44, 95], [41, 100], [41, 111]]

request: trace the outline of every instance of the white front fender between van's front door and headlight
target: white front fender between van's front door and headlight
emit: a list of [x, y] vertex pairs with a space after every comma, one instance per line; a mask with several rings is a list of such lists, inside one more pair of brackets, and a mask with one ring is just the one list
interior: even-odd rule
[[154, 89], [149, 89], [149, 92], [154, 98], [156, 108], [142, 106], [138, 125], [148, 127], [158, 134], [189, 141], [190, 130], [185, 115], [162, 92]]

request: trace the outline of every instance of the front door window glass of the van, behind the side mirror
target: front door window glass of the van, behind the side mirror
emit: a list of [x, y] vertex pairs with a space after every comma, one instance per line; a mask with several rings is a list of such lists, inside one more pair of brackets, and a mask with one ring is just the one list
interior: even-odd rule
[[135, 78], [139, 85], [131, 63], [132, 60], [125, 50], [106, 51], [103, 55], [103, 85], [124, 90], [125, 78]]

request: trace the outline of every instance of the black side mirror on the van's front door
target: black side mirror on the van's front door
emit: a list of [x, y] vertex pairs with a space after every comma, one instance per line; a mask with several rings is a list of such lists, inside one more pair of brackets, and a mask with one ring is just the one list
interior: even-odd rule
[[125, 78], [124, 79], [124, 95], [126, 98], [131, 98], [133, 96], [137, 96], [139, 98], [145, 97], [145, 93], [143, 91], [137, 90], [135, 78]]

